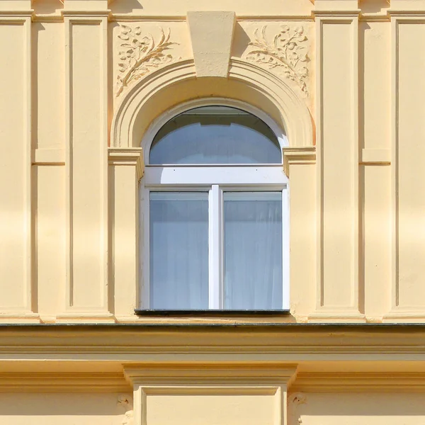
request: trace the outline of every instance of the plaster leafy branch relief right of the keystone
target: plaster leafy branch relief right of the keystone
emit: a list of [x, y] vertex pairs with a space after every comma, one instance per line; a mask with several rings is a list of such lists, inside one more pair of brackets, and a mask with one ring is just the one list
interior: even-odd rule
[[308, 76], [307, 36], [302, 26], [291, 29], [288, 25], [280, 26], [280, 33], [276, 34], [272, 42], [266, 37], [266, 26], [257, 28], [254, 32], [254, 41], [249, 46], [254, 49], [246, 53], [245, 59], [257, 62], [269, 69], [276, 69], [285, 78], [290, 79], [301, 91], [308, 95], [306, 79]]

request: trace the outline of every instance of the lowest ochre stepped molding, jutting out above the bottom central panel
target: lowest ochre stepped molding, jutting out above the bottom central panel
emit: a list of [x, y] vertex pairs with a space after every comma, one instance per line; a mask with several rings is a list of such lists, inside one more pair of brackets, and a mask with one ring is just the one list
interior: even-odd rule
[[[1, 392], [130, 392], [132, 385], [273, 385], [285, 382], [297, 392], [423, 392], [424, 372], [297, 373], [292, 363], [143, 363], [124, 366], [123, 373], [2, 372]], [[261, 390], [261, 389], [260, 389]], [[246, 392], [258, 392], [247, 387]], [[118, 400], [120, 403], [120, 400]], [[130, 403], [131, 404], [131, 403]], [[128, 409], [130, 409], [130, 404]]]

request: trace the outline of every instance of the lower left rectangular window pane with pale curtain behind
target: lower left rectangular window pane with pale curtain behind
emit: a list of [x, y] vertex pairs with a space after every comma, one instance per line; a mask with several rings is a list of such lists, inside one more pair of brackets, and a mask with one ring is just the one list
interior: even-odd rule
[[208, 309], [208, 193], [150, 193], [150, 306]]

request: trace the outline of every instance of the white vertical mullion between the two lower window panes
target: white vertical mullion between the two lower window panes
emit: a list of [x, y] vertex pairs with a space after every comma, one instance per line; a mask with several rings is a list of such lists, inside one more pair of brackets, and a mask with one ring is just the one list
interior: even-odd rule
[[222, 190], [212, 185], [209, 193], [208, 285], [210, 309], [222, 309]]

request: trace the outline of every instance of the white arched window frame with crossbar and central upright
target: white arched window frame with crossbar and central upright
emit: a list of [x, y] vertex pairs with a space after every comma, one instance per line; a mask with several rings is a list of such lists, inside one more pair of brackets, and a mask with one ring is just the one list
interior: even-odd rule
[[208, 191], [208, 288], [209, 310], [224, 310], [222, 264], [222, 206], [223, 192], [227, 191], [281, 191], [282, 192], [282, 253], [283, 300], [282, 310], [289, 310], [289, 188], [282, 164], [200, 164], [200, 165], [149, 165], [149, 151], [154, 136], [171, 118], [200, 106], [230, 106], [256, 115], [278, 137], [280, 147], [288, 140], [276, 123], [253, 106], [225, 98], [203, 98], [183, 103], [159, 117], [147, 130], [142, 140], [145, 152], [145, 176], [139, 186], [140, 200], [140, 287], [139, 308], [149, 310], [149, 198], [158, 191]]

